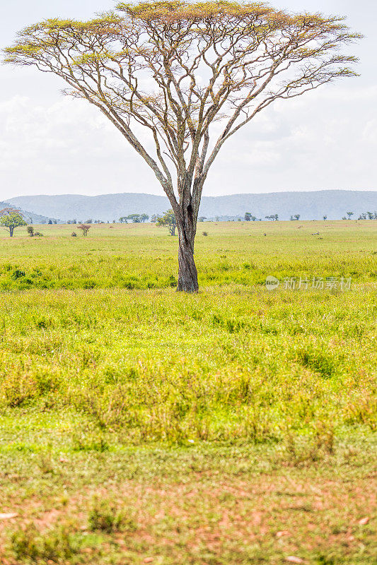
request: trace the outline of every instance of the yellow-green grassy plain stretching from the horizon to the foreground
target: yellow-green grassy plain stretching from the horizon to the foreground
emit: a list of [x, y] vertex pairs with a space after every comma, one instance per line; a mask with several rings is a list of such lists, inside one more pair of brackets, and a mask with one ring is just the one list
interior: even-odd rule
[[376, 228], [4, 232], [1, 564], [373, 563]]

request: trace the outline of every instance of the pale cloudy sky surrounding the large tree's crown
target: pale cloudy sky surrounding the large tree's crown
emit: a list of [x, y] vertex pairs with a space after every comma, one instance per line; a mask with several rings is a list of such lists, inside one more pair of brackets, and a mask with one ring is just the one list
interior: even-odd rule
[[[365, 35], [352, 46], [357, 78], [275, 102], [222, 149], [206, 196], [286, 190], [377, 190], [377, 3], [276, 0], [289, 11], [347, 16]], [[3, 0], [0, 44], [50, 17], [91, 18], [109, 0]], [[62, 95], [63, 81], [0, 66], [0, 201], [33, 194], [162, 194], [153, 172], [100, 112]]]

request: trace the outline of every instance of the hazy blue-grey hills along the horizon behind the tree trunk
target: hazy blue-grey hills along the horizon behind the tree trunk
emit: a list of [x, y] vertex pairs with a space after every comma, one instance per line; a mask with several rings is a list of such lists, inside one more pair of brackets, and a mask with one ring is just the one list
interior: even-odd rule
[[[146, 213], [149, 216], [170, 208], [166, 196], [153, 194], [101, 194], [82, 196], [62, 194], [57, 196], [16, 196], [8, 200], [13, 206], [32, 210], [44, 218], [76, 220], [89, 218], [105, 222], [118, 220], [120, 216]], [[209, 219], [219, 217], [231, 220], [250, 212], [257, 218], [278, 214], [280, 220], [289, 220], [300, 214], [301, 220], [339, 220], [347, 212], [357, 218], [362, 212], [377, 210], [377, 191], [287, 191], [267, 194], [231, 194], [229, 196], [203, 196], [199, 215]], [[33, 220], [34, 221], [34, 220]]]

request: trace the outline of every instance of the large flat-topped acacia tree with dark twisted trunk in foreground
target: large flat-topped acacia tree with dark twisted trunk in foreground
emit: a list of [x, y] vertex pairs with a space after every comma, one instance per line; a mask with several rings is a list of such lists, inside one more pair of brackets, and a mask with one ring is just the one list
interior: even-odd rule
[[121, 2], [87, 22], [30, 25], [5, 51], [61, 77], [151, 167], [177, 222], [178, 290], [196, 291], [197, 215], [222, 146], [274, 100], [353, 76], [340, 48], [358, 37], [340, 16], [259, 2]]

